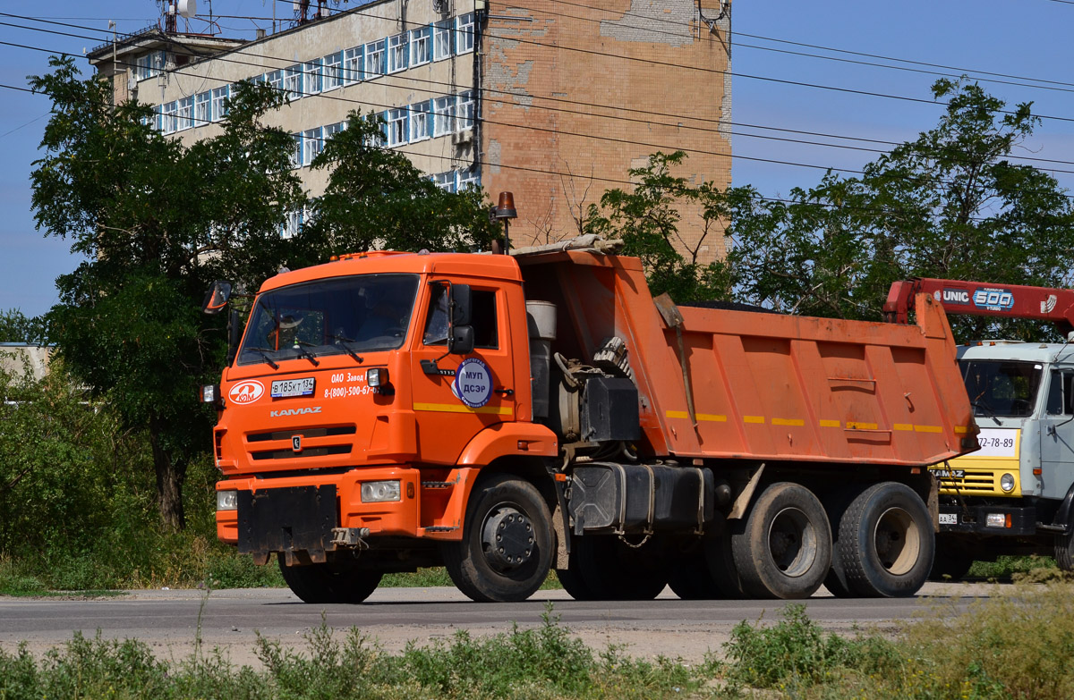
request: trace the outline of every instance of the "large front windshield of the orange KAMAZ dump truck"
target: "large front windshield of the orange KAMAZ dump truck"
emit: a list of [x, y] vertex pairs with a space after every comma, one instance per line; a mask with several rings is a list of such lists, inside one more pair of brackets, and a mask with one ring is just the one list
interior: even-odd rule
[[393, 350], [410, 325], [417, 275], [333, 277], [258, 296], [238, 364]]

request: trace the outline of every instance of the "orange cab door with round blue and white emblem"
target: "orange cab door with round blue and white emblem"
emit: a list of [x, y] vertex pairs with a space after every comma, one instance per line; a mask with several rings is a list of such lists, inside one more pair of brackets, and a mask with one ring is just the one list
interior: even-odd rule
[[447, 352], [447, 295], [446, 282], [425, 286], [411, 377], [419, 460], [453, 465], [475, 435], [516, 420], [518, 388], [505, 290], [470, 285], [475, 347], [465, 355]]

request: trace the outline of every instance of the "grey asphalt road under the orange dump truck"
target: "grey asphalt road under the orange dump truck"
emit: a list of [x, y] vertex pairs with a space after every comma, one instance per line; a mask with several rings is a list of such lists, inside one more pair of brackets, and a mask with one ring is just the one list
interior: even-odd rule
[[[837, 599], [822, 594], [804, 601], [825, 629], [892, 632], [915, 616], [953, 615], [974, 599], [1000, 595], [1005, 586], [927, 584], [915, 598]], [[406, 642], [427, 643], [466, 629], [475, 636], [541, 624], [548, 601], [553, 615], [596, 648], [625, 644], [627, 652], [699, 660], [719, 652], [731, 628], [746, 619], [773, 622], [787, 604], [772, 600], [679, 600], [670, 590], [656, 600], [580, 602], [563, 590], [540, 590], [521, 603], [476, 603], [454, 588], [381, 588], [361, 606], [307, 606], [287, 589], [142, 590], [92, 600], [0, 597], [0, 648], [26, 642], [35, 654], [62, 645], [76, 630], [115, 639], [140, 639], [158, 656], [180, 659], [198, 638], [235, 663], [255, 663], [258, 633], [302, 648], [304, 635], [322, 622], [336, 629], [360, 628], [388, 651]]]

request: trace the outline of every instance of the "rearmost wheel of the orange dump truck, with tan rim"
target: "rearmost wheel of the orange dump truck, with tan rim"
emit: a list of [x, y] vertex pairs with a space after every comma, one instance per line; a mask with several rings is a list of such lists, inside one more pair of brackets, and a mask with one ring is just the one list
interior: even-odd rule
[[905, 484], [873, 484], [839, 523], [833, 569], [851, 595], [912, 596], [932, 570], [935, 539], [929, 511]]

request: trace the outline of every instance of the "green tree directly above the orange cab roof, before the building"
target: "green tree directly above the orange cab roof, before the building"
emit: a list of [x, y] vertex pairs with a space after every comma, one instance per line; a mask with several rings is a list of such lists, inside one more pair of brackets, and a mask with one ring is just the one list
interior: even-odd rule
[[307, 252], [323, 261], [375, 248], [488, 249], [503, 235], [479, 188], [441, 190], [406, 156], [383, 147], [382, 128], [373, 114], [352, 112], [314, 160], [314, 169], [330, 172], [300, 234]]

